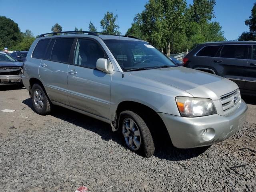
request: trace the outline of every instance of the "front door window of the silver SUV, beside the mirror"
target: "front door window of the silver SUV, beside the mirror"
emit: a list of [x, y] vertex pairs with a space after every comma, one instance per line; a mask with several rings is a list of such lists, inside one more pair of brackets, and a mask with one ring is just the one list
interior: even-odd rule
[[74, 64], [95, 69], [96, 62], [100, 58], [106, 58], [106, 56], [96, 42], [88, 39], [78, 39]]

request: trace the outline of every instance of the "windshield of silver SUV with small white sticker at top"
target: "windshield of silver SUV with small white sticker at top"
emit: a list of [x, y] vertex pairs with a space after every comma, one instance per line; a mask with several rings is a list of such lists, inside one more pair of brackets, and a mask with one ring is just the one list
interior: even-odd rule
[[147, 42], [129, 40], [104, 40], [104, 42], [124, 71], [176, 66]]

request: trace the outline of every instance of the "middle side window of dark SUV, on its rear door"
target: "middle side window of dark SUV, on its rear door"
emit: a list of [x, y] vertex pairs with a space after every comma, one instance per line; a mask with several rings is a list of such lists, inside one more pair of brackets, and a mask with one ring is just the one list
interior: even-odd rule
[[246, 58], [246, 48], [247, 45], [224, 45], [220, 57], [244, 59]]

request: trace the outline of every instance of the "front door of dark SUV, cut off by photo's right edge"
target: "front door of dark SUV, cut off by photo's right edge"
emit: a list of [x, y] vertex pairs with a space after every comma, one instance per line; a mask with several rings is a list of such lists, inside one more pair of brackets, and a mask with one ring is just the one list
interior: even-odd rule
[[248, 70], [244, 89], [256, 91], [256, 45], [250, 45]]

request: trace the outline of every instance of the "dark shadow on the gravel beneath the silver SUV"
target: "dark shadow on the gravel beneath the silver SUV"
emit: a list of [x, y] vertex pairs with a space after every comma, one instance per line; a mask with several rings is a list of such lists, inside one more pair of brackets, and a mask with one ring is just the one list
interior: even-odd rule
[[[22, 101], [22, 103], [26, 104], [28, 107], [34, 110], [30, 98]], [[54, 110], [51, 112], [50, 115], [56, 118], [60, 118], [61, 120], [64, 120], [66, 122], [72, 123], [76, 126], [80, 126], [86, 130], [95, 132], [96, 134], [100, 135], [102, 139], [113, 140], [114, 142], [125, 147], [124, 141], [122, 140], [122, 134], [119, 131], [112, 132], [111, 126], [107, 123], [60, 106], [54, 106]], [[180, 161], [196, 157], [204, 153], [208, 148], [209, 147], [178, 149], [172, 146], [170, 141], [158, 138], [156, 143], [156, 152], [154, 156], [160, 159], [166, 159], [170, 161]]]

